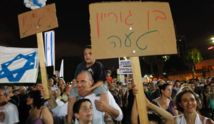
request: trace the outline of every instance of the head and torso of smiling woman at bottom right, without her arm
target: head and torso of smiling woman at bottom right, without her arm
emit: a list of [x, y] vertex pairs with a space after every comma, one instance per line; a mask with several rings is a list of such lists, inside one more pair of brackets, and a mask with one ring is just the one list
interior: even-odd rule
[[197, 112], [198, 99], [189, 87], [184, 87], [177, 93], [175, 104], [182, 114], [174, 117], [175, 124], [214, 124], [213, 120]]

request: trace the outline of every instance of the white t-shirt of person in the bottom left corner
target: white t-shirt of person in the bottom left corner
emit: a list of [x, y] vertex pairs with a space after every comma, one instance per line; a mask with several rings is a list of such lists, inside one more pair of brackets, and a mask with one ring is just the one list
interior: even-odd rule
[[0, 124], [15, 124], [19, 122], [19, 113], [16, 105], [8, 102], [0, 106]]

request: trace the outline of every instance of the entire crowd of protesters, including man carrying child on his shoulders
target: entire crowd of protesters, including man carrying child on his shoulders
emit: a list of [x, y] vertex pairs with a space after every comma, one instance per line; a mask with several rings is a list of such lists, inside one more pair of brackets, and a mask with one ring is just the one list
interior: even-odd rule
[[[150, 77], [142, 80], [149, 121], [157, 124], [213, 124], [214, 78], [188, 81]], [[136, 87], [111, 77], [91, 48], [77, 66], [75, 79], [48, 79], [50, 98], [41, 82], [33, 86], [0, 87], [0, 124], [137, 124]]]

